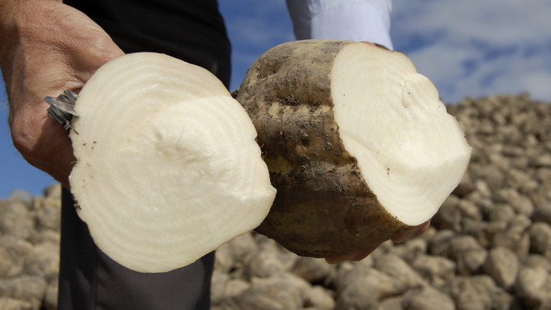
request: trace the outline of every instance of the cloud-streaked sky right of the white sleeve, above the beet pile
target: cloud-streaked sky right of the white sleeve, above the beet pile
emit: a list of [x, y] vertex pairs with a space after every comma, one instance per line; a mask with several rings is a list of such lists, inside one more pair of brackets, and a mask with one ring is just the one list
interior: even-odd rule
[[394, 0], [395, 48], [445, 101], [530, 92], [551, 102], [551, 1]]

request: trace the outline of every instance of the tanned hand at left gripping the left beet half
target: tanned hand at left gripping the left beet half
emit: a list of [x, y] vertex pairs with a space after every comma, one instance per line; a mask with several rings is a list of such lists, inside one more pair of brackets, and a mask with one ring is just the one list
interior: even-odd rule
[[68, 188], [71, 141], [48, 117], [44, 97], [78, 92], [101, 65], [124, 53], [99, 25], [61, 1], [0, 0], [0, 37], [14, 146]]

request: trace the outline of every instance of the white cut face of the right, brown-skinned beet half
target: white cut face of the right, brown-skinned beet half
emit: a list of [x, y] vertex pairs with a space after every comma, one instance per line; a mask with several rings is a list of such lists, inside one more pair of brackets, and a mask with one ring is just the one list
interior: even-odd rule
[[467, 169], [471, 148], [438, 92], [399, 52], [341, 50], [331, 72], [346, 150], [386, 211], [406, 225], [430, 219]]

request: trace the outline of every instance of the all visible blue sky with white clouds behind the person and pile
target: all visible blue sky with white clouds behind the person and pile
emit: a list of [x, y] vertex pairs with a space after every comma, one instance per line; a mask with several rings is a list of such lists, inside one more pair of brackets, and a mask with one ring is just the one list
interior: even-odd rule
[[[219, 1], [233, 43], [234, 90], [262, 52], [294, 36], [284, 0]], [[549, 0], [394, 0], [391, 37], [446, 103], [521, 92], [549, 103], [550, 16]], [[0, 89], [0, 199], [14, 189], [39, 195], [54, 180], [12, 146]]]

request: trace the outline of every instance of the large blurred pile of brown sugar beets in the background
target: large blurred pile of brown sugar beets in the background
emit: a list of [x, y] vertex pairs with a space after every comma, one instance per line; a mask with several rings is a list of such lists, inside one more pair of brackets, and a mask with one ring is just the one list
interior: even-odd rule
[[[472, 160], [425, 234], [339, 265], [240, 236], [217, 251], [212, 309], [551, 309], [551, 104], [447, 107]], [[0, 201], [0, 309], [56, 309], [59, 196]]]

